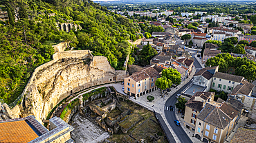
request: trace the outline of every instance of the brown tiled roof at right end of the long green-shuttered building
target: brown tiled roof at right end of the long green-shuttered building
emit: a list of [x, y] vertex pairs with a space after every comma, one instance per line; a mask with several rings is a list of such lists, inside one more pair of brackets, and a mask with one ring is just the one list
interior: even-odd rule
[[230, 95], [242, 94], [249, 96], [249, 94], [253, 91], [254, 85], [246, 80], [243, 80], [241, 83], [242, 85], [237, 85], [234, 89], [232, 89]]

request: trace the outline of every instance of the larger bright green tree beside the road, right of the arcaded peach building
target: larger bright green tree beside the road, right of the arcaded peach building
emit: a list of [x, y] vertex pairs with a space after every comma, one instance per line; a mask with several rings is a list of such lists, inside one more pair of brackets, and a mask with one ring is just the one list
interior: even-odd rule
[[177, 69], [163, 69], [161, 76], [165, 76], [168, 80], [172, 81], [172, 84], [176, 86], [181, 83], [181, 74], [177, 71]]

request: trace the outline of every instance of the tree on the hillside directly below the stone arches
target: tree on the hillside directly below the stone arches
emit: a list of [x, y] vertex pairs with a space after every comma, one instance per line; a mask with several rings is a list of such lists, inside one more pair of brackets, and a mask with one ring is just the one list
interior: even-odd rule
[[75, 47], [78, 44], [75, 33], [72, 30], [69, 33], [64, 32], [62, 39], [67, 43], [67, 47]]

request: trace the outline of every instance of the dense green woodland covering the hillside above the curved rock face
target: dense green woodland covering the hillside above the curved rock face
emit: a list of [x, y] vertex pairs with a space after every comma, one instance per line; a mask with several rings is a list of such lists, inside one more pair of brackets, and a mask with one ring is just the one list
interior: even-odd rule
[[[138, 25], [92, 1], [5, 0], [0, 5], [10, 19], [0, 23], [0, 98], [7, 103], [21, 94], [36, 67], [51, 61], [51, 45], [66, 41], [77, 50], [106, 56], [112, 67], [123, 69], [133, 51], [128, 40], [142, 37]], [[57, 23], [75, 23], [82, 29], [66, 33]], [[129, 58], [130, 64], [133, 61]]]

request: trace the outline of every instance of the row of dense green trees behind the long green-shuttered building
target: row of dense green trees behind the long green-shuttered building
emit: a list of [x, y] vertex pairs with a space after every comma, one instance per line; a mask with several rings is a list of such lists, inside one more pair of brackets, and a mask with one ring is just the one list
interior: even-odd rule
[[208, 59], [205, 63], [208, 67], [219, 65], [219, 72], [230, 73], [235, 69], [235, 75], [244, 76], [252, 82], [256, 78], [256, 63], [248, 58], [234, 58], [228, 53], [218, 54], [214, 58]]

